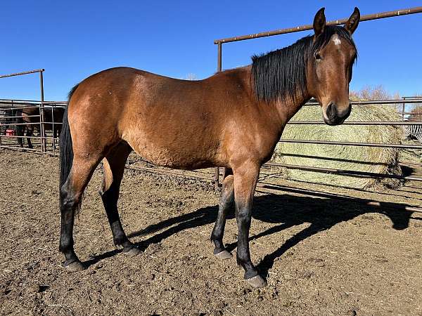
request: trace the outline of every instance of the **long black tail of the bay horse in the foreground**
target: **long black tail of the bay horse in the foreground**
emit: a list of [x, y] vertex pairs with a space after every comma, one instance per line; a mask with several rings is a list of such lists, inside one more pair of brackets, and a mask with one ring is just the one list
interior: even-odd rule
[[[61, 126], [61, 133], [60, 133], [60, 187], [59, 190], [63, 187], [66, 180], [68, 180], [68, 176], [70, 173], [70, 169], [72, 169], [72, 162], [73, 162], [73, 145], [72, 145], [72, 137], [70, 135], [70, 128], [69, 128], [69, 121], [68, 121], [68, 108], [70, 103], [70, 98], [72, 98], [72, 94], [75, 93], [77, 86], [74, 86], [72, 90], [70, 90], [68, 95], [68, 106], [66, 107], [65, 113], [63, 114], [63, 123]], [[61, 199], [60, 199], [61, 202]]]

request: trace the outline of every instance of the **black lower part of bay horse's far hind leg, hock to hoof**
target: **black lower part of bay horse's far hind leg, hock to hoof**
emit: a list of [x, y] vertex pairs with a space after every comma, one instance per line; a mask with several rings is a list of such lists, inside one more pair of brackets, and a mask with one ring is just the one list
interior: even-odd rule
[[113, 242], [116, 246], [123, 247], [127, 252], [134, 248], [134, 244], [127, 238], [120, 222], [119, 213], [117, 211], [117, 199], [119, 197], [119, 189], [113, 183], [106, 192], [100, 191], [101, 199], [103, 200], [104, 209], [106, 209], [108, 223], [110, 224], [111, 231], [113, 232]]

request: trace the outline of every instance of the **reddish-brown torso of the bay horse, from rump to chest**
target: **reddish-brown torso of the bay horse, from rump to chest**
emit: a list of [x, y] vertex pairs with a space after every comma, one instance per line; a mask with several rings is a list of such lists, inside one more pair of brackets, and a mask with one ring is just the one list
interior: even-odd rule
[[101, 159], [124, 140], [143, 159], [170, 168], [236, 168], [249, 159], [262, 164], [295, 108], [279, 111], [258, 102], [250, 78], [250, 67], [201, 81], [126, 67], [95, 74], [70, 100], [74, 150]]

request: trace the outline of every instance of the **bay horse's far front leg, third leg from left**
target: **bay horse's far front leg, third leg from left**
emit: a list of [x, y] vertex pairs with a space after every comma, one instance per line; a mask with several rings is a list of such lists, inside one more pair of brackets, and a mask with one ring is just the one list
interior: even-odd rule
[[218, 215], [215, 221], [214, 229], [212, 230], [211, 240], [214, 242], [214, 254], [217, 258], [224, 260], [231, 258], [231, 254], [224, 248], [223, 235], [224, 226], [226, 225], [226, 216], [229, 209], [234, 204], [234, 183], [233, 172], [227, 169], [225, 172], [222, 195], [219, 199]]

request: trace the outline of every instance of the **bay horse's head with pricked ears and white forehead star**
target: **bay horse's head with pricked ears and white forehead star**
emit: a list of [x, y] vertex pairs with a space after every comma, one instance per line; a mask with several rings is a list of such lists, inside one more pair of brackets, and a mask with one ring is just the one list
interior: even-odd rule
[[349, 83], [357, 49], [352, 34], [359, 24], [358, 8], [344, 27], [327, 26], [324, 8], [314, 18], [312, 50], [307, 63], [307, 90], [321, 104], [328, 125], [342, 124], [350, 114]]

